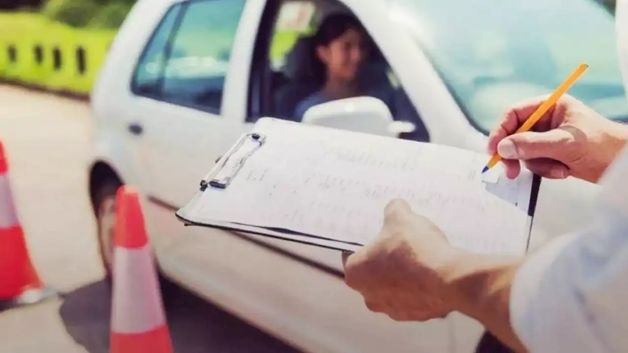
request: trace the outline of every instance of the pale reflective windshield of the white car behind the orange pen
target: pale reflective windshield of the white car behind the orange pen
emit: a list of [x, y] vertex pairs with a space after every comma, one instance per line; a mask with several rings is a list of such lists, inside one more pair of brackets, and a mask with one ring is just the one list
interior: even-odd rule
[[568, 91], [610, 119], [628, 119], [614, 17], [592, 0], [391, 0], [468, 118], [490, 130], [511, 104]]

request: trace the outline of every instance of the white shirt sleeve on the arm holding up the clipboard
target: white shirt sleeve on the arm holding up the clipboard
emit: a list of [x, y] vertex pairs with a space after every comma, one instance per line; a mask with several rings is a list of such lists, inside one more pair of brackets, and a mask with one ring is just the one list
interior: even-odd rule
[[517, 271], [511, 323], [533, 353], [628, 351], [628, 148], [602, 180], [595, 224]]

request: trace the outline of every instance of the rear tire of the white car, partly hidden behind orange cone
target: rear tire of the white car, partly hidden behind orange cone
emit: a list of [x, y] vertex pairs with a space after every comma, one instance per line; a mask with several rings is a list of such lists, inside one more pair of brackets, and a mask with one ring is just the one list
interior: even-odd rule
[[[122, 186], [116, 178], [109, 178], [99, 184], [94, 192], [94, 211], [97, 227], [97, 241], [100, 261], [105, 269], [105, 282], [109, 288], [113, 284], [113, 250], [114, 250], [114, 225], [116, 224], [116, 193]], [[156, 266], [161, 296], [167, 307], [171, 297], [175, 295], [178, 287], [172, 281], [163, 276]]]

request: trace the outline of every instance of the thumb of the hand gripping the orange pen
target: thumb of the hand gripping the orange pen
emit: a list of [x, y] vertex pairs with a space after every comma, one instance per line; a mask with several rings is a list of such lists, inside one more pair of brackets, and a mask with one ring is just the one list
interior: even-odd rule
[[551, 158], [561, 160], [567, 147], [574, 139], [573, 134], [565, 129], [553, 129], [543, 133], [529, 131], [502, 139], [497, 144], [497, 153], [508, 160], [531, 160]]

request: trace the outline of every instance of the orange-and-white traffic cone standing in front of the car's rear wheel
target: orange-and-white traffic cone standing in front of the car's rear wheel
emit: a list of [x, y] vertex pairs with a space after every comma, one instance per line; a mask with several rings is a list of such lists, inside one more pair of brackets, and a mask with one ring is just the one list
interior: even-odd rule
[[111, 353], [171, 353], [170, 330], [138, 192], [116, 194]]

